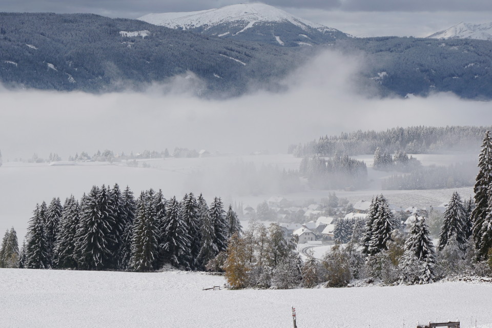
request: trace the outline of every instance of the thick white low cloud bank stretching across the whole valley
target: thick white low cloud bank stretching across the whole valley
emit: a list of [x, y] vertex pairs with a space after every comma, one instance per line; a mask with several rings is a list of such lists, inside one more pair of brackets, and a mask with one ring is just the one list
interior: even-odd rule
[[66, 158], [106, 148], [284, 153], [290, 144], [325, 134], [492, 121], [490, 103], [450, 93], [368, 98], [356, 83], [363, 66], [363, 56], [325, 52], [283, 80], [284, 92], [256, 91], [227, 100], [195, 96], [201, 82], [192, 74], [140, 93], [3, 90], [0, 150], [4, 160], [34, 152]]

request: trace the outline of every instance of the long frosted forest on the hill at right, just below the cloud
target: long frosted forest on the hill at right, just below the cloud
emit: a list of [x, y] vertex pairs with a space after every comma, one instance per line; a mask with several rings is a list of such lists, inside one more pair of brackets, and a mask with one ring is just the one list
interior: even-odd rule
[[289, 154], [303, 156], [350, 156], [374, 154], [379, 147], [388, 153], [404, 151], [409, 154], [436, 153], [444, 150], [469, 150], [476, 147], [483, 134], [491, 127], [447, 126], [392, 128], [386, 131], [342, 133], [321, 136], [307, 144], [290, 145]]

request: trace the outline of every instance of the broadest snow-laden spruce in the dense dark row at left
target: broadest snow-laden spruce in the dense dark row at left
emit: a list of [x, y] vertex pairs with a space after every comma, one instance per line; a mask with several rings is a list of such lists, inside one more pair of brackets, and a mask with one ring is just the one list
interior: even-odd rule
[[80, 222], [75, 235], [79, 268], [84, 270], [110, 269], [113, 254], [109, 245], [114, 224], [113, 208], [106, 187], [93, 186], [81, 201]]

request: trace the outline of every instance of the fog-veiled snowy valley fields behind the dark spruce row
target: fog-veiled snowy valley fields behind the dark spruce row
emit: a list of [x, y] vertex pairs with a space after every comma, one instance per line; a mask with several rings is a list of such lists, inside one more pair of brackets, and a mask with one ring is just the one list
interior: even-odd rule
[[[424, 163], [450, 163], [463, 159], [465, 155], [424, 155]], [[359, 156], [372, 165], [372, 156]], [[472, 159], [473, 156], [465, 157]], [[304, 190], [302, 192], [272, 195], [237, 195], [226, 188], [224, 181], [232, 179], [231, 166], [235, 163], [252, 162], [259, 168], [262, 165], [272, 165], [279, 170], [298, 169], [300, 158], [292, 155], [248, 155], [248, 156], [220, 156], [205, 158], [169, 158], [140, 160], [139, 167], [128, 167], [126, 163], [85, 162], [78, 165], [50, 166], [48, 163], [21, 163], [8, 162], [4, 158], [0, 167], [0, 233], [10, 227], [17, 231], [22, 240], [37, 202], [45, 200], [49, 203], [52, 197], [60, 197], [63, 202], [70, 194], [80, 198], [84, 192], [88, 192], [93, 185], [114, 185], [117, 182], [120, 187], [127, 185], [133, 190], [135, 196], [140, 191], [153, 188], [162, 189], [165, 197], [182, 197], [190, 191], [195, 194], [203, 193], [204, 197], [211, 201], [214, 196], [221, 196], [224, 203], [242, 201], [244, 206], [250, 205], [256, 208], [257, 204], [271, 196], [283, 196], [289, 200], [303, 202], [307, 200], [319, 200], [327, 197], [330, 191]], [[143, 162], [149, 168], [143, 168]], [[204, 174], [197, 174], [204, 172]], [[338, 197], [346, 197], [351, 202], [370, 200], [374, 195], [381, 193], [380, 180], [393, 173], [375, 171], [368, 167], [368, 178], [373, 180], [371, 187], [366, 190], [353, 192], [336, 191]], [[22, 182], [20, 182], [22, 181]], [[457, 189], [462, 197], [468, 198], [472, 188]], [[399, 206], [438, 206], [447, 201], [454, 189], [447, 190], [423, 190], [423, 191], [382, 191], [390, 203]]]

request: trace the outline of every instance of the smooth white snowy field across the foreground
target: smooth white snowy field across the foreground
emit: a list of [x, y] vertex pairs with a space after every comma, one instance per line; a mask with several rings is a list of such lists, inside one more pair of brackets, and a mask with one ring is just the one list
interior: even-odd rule
[[0, 269], [0, 327], [492, 327], [487, 283], [202, 291], [220, 276]]

